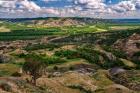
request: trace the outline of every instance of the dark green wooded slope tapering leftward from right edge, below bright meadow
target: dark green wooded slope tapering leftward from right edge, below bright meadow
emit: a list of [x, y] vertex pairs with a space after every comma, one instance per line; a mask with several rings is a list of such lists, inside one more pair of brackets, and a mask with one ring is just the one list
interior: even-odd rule
[[75, 35], [70, 35], [66, 38], [58, 39], [52, 41], [53, 43], [59, 44], [98, 44], [110, 46], [114, 44], [118, 39], [124, 39], [132, 34], [140, 34], [140, 29], [131, 30], [110, 30], [106, 32], [96, 32], [96, 33], [79, 33]]

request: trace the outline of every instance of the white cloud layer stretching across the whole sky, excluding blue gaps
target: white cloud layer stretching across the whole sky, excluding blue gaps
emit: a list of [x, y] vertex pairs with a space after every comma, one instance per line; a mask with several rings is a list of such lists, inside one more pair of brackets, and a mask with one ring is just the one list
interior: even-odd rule
[[[62, 2], [62, 0], [42, 0], [46, 2]], [[140, 10], [140, 0], [123, 0], [117, 4], [105, 4], [105, 0], [67, 0], [71, 5], [64, 5], [63, 7], [45, 7], [39, 6], [33, 0], [0, 0], [0, 15], [7, 13], [7, 15], [15, 16], [128, 16]], [[18, 14], [18, 15], [17, 15]], [[139, 13], [135, 13], [139, 14]], [[4, 14], [3, 14], [4, 15]], [[8, 16], [9, 16], [8, 15]], [[133, 15], [134, 16], [134, 15]]]

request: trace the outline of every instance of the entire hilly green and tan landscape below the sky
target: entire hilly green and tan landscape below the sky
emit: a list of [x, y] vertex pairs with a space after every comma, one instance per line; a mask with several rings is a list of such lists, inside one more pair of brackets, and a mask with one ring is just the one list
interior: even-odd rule
[[0, 93], [140, 93], [139, 23], [5, 20]]

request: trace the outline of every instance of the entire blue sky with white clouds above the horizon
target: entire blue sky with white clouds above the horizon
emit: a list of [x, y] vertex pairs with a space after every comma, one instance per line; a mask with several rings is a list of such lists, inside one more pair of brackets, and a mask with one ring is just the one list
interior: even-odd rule
[[0, 0], [0, 18], [140, 18], [140, 0]]

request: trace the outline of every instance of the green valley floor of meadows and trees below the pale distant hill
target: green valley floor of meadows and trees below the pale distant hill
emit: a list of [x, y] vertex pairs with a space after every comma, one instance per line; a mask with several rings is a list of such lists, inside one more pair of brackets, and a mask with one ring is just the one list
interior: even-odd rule
[[[101, 40], [101, 43], [106, 43], [108, 45], [114, 43], [117, 39], [125, 38], [133, 33], [139, 32], [139, 24], [90, 24], [84, 26], [63, 26], [63, 27], [38, 27], [32, 26], [28, 27], [28, 24], [24, 23], [1, 23], [1, 26], [5, 26], [11, 29], [11, 32], [1, 32], [0, 41], [10, 41], [10, 40], [33, 40], [39, 39], [44, 36], [70, 36], [72, 39], [75, 36], [78, 38], [80, 35], [85, 35], [85, 38], [92, 39], [91, 42], [95, 40]], [[117, 28], [126, 28], [123, 30], [113, 30], [110, 27], [117, 26]], [[127, 29], [133, 28], [133, 29]], [[136, 29], [137, 27], [137, 29]], [[86, 36], [86, 34], [90, 34]], [[67, 40], [66, 40], [67, 41]], [[71, 40], [73, 42], [73, 40]]]

